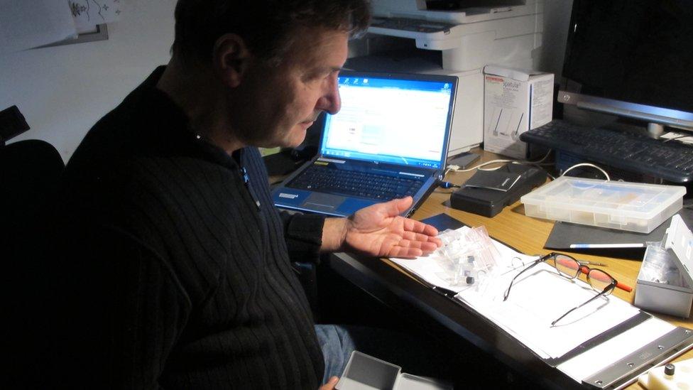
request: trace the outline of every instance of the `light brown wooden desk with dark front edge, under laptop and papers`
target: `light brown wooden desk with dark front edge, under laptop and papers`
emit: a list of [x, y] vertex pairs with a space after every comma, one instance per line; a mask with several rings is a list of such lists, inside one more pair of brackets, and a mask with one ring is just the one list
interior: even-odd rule
[[[479, 150], [474, 150], [474, 152], [481, 154], [481, 160], [476, 163], [503, 158]], [[449, 173], [446, 180], [461, 184], [472, 174], [473, 172]], [[543, 246], [553, 227], [552, 221], [526, 217], [524, 207], [520, 202], [506, 207], [493, 218], [454, 210], [447, 206], [451, 192], [452, 190], [435, 190], [415, 212], [413, 218], [423, 220], [444, 213], [471, 227], [484, 225], [491, 237], [526, 254], [545, 254], [548, 252], [543, 249]], [[337, 257], [339, 259], [330, 265], [333, 269], [395, 310], [400, 310], [402, 313], [407, 313], [407, 310], [422, 311], [427, 318], [432, 320], [432, 323], [440, 325], [438, 330], [445, 329], [458, 337], [464, 337], [482, 350], [514, 367], [518, 372], [530, 370], [530, 377], [537, 378], [542, 386], [563, 389], [580, 387], [577, 382], [542, 362], [496, 325], [485, 318], [479, 318], [479, 315], [471, 312], [471, 310], [460, 305], [454, 305], [444, 297], [425, 288], [400, 271], [391, 261], [387, 259], [381, 261], [356, 259], [352, 256]], [[579, 254], [579, 259], [608, 264], [606, 269], [614, 278], [635, 287], [640, 261], [584, 254]], [[633, 303], [635, 289], [631, 293], [616, 289], [613, 295]], [[692, 318], [657, 316], [674, 325], [693, 328]], [[433, 326], [435, 327], [435, 325]], [[693, 358], [693, 351], [686, 352], [678, 359], [689, 358]], [[629, 389], [641, 389], [641, 387], [638, 384], [632, 384]]]

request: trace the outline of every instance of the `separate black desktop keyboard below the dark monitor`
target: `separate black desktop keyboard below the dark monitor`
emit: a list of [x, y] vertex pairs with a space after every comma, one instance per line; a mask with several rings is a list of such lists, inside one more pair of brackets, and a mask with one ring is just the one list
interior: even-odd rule
[[576, 126], [562, 120], [527, 131], [520, 135], [520, 140], [673, 183], [693, 179], [693, 146], [678, 141], [665, 142], [645, 134]]

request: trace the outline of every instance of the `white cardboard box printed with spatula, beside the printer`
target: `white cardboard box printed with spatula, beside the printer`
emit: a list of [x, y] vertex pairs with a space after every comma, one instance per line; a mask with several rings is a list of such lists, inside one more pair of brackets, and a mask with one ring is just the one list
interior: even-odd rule
[[525, 159], [520, 134], [549, 123], [553, 110], [551, 73], [484, 67], [484, 150]]

